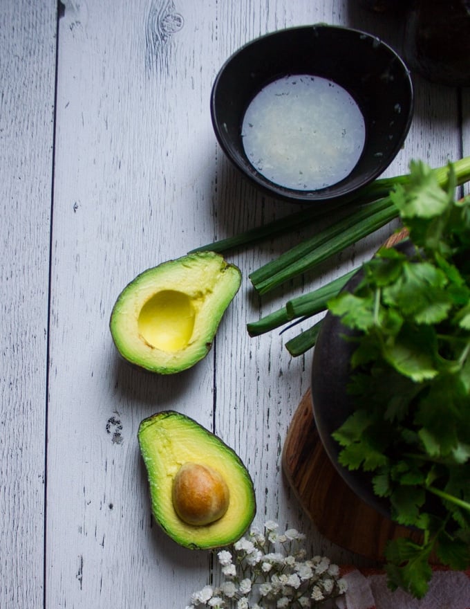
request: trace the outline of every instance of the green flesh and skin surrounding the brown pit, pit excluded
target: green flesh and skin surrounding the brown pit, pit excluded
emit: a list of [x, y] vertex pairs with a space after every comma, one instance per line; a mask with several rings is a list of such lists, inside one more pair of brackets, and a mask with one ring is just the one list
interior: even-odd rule
[[[232, 448], [194, 419], [173, 410], [144, 419], [138, 440], [153, 516], [176, 543], [190, 549], [210, 549], [241, 538], [254, 518], [256, 500], [250, 473]], [[187, 463], [215, 468], [229, 489], [227, 510], [208, 525], [188, 524], [173, 507], [173, 480]]]

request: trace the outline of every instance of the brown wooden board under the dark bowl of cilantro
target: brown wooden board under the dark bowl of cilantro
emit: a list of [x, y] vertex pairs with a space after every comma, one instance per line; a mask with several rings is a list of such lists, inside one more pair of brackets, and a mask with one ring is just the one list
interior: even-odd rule
[[282, 455], [283, 471], [320, 533], [351, 552], [384, 560], [389, 539], [419, 534], [384, 518], [348, 487], [321, 444], [315, 428], [310, 390], [294, 414]]

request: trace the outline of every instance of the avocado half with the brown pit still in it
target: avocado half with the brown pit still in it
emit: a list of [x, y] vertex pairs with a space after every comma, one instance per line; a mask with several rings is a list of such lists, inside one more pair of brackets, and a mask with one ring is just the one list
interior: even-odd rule
[[176, 543], [212, 549], [243, 536], [256, 500], [250, 473], [232, 448], [174, 410], [144, 419], [138, 441], [153, 516]]

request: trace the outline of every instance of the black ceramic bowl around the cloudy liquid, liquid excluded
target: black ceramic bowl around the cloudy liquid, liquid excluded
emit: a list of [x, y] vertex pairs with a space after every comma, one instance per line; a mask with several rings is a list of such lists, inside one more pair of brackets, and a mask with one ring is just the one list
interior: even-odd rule
[[[256, 94], [279, 78], [301, 74], [345, 89], [364, 118], [359, 161], [346, 178], [317, 190], [270, 181], [250, 163], [243, 147], [243, 118]], [[212, 88], [211, 114], [223, 151], [255, 185], [279, 199], [315, 203], [346, 197], [384, 172], [408, 134], [413, 84], [404, 62], [377, 37], [338, 26], [301, 26], [260, 37], [229, 57]]]

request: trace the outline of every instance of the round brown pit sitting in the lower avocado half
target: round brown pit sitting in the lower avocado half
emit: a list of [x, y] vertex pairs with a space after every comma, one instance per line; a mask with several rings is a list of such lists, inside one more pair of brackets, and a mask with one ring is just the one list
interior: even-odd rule
[[209, 525], [229, 507], [229, 488], [223, 475], [208, 465], [183, 464], [173, 480], [173, 507], [189, 525]]

